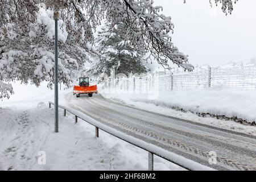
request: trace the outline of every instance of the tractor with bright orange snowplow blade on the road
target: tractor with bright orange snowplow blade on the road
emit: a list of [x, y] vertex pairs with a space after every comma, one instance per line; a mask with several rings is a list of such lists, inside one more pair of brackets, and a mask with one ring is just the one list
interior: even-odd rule
[[80, 77], [79, 85], [75, 85], [73, 88], [73, 95], [80, 97], [81, 94], [88, 94], [89, 97], [93, 96], [93, 93], [98, 93], [97, 85], [89, 86], [89, 77]]

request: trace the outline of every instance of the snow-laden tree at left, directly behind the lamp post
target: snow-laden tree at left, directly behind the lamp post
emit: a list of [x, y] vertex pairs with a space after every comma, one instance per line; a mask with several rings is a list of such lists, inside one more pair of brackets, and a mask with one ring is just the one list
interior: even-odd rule
[[[44, 4], [38, 7], [35, 22], [27, 22], [27, 27], [18, 21], [3, 24], [0, 28], [0, 80], [20, 80], [25, 84], [31, 81], [37, 86], [48, 81], [52, 88], [55, 58], [53, 11], [46, 9]], [[67, 31], [65, 22], [59, 20], [59, 80], [65, 85], [71, 83], [73, 72], [82, 69], [85, 61], [97, 56], [85, 39], [85, 34], [88, 34], [85, 29], [76, 29], [73, 26]], [[8, 92], [12, 93], [3, 86], [1, 90], [5, 90], [5, 94], [0, 97], [9, 97]]]

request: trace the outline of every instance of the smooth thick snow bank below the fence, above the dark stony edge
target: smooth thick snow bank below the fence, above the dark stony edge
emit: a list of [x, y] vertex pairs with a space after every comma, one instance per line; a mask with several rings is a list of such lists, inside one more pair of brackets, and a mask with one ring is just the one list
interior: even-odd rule
[[180, 90], [160, 92], [156, 100], [149, 100], [147, 94], [103, 93], [106, 98], [123, 101], [144, 102], [181, 111], [191, 111], [200, 116], [232, 119], [255, 123], [256, 91], [226, 88], [202, 90]]

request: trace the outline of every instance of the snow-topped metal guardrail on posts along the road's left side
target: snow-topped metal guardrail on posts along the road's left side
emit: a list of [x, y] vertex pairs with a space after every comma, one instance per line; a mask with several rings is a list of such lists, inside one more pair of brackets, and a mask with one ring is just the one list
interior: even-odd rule
[[[51, 105], [54, 105], [53, 102], [49, 102], [49, 108], [51, 108]], [[113, 129], [112, 127], [109, 127], [107, 125], [104, 125], [98, 121], [96, 121], [93, 118], [88, 117], [88, 115], [81, 113], [80, 111], [69, 109], [68, 107], [59, 105], [59, 108], [64, 109], [64, 116], [66, 116], [67, 111], [73, 115], [75, 115], [75, 123], [78, 122], [78, 118], [82, 119], [82, 121], [85, 121], [89, 123], [90, 125], [93, 125], [95, 127], [95, 135], [98, 138], [99, 137], [99, 129], [102, 131], [105, 131], [106, 133], [113, 135], [114, 137], [117, 137], [119, 139], [124, 140], [125, 142], [128, 142], [130, 144], [133, 144], [134, 146], [137, 146], [139, 148], [142, 148], [143, 150], [146, 150], [148, 152], [148, 170], [153, 171], [154, 170], [154, 155], [159, 156], [160, 158], [166, 159], [177, 166], [183, 167], [188, 170], [192, 171], [213, 171], [215, 169], [203, 166], [202, 164], [199, 164], [197, 162], [194, 162], [190, 159], [184, 158], [183, 156], [174, 154], [170, 151], [164, 150], [163, 148], [160, 148], [158, 146], [155, 146], [153, 144], [144, 142], [141, 139], [137, 139], [134, 137], [131, 137], [130, 135], [121, 133], [118, 130]]]

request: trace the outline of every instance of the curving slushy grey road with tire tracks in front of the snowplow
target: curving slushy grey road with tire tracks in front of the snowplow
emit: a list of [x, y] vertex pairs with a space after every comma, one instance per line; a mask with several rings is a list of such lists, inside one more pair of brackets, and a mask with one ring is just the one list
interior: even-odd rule
[[[65, 96], [68, 106], [108, 126], [218, 170], [256, 170], [256, 137], [152, 113], [100, 95]], [[209, 164], [209, 152], [217, 164]]]

